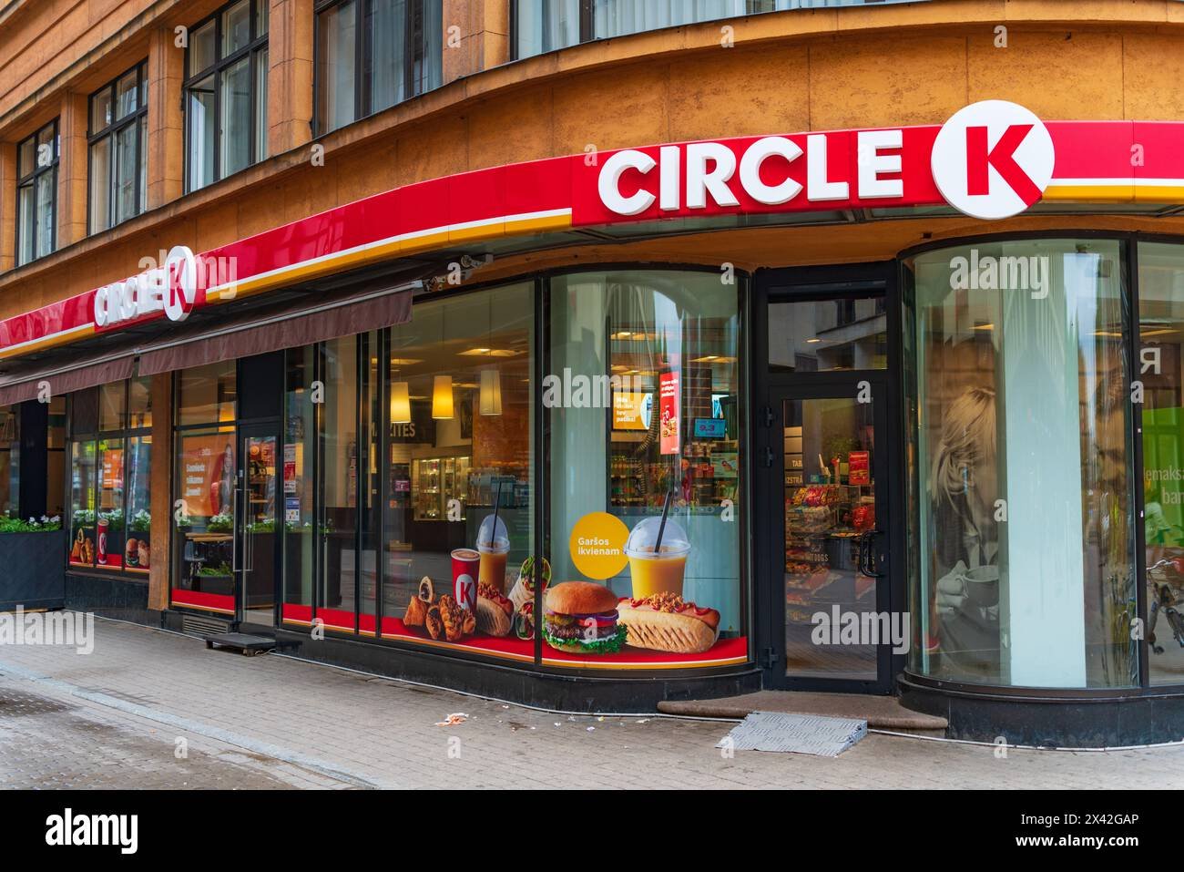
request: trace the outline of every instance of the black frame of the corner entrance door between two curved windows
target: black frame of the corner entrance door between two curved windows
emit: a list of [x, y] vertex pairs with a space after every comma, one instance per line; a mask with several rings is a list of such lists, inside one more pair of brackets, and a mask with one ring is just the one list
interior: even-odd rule
[[[907, 434], [903, 423], [902, 357], [901, 357], [901, 300], [896, 261], [856, 263], [836, 267], [804, 267], [791, 269], [761, 269], [753, 277], [752, 314], [755, 329], [752, 331], [752, 421], [753, 467], [771, 470], [777, 464], [781, 444], [780, 409], [774, 408], [774, 396], [787, 386], [802, 390], [843, 384], [852, 372], [802, 373], [787, 378], [774, 376], [768, 368], [768, 306], [771, 302], [825, 301], [866, 297], [883, 294], [888, 326], [887, 368], [874, 372], [873, 399], [883, 404], [887, 432], [877, 434], [877, 451], [882, 455], [881, 469], [887, 475], [887, 506], [877, 506], [877, 528], [886, 531], [887, 578], [877, 591], [877, 609], [889, 613], [908, 610], [908, 588], [905, 559], [906, 530], [909, 522], [905, 498]], [[858, 379], [856, 379], [858, 380]], [[882, 397], [877, 397], [877, 384], [882, 385]], [[809, 385], [816, 385], [811, 389]], [[771, 475], [755, 475], [753, 490], [755, 547], [753, 553], [755, 604], [755, 629], [758, 661], [765, 673], [766, 686], [792, 687], [800, 691], [893, 693], [896, 677], [903, 671], [906, 655], [886, 648], [880, 652], [880, 675], [876, 681], [845, 679], [785, 679], [784, 662], [779, 652], [784, 648], [784, 556], [773, 553], [781, 539], [774, 536], [776, 525], [784, 528], [784, 482], [774, 482]], [[784, 532], [781, 533], [784, 536]], [[909, 628], [910, 643], [914, 635]], [[778, 642], [778, 635], [780, 642]], [[780, 675], [778, 675], [780, 671]]]

